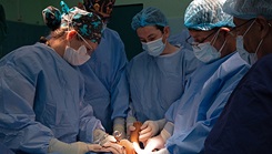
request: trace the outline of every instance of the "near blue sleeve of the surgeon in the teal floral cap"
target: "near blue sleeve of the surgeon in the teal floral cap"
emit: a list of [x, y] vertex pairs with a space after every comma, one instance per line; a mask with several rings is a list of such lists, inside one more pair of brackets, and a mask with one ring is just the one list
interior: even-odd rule
[[36, 121], [36, 88], [14, 68], [0, 68], [0, 135], [4, 145], [28, 153], [47, 153], [51, 130]]

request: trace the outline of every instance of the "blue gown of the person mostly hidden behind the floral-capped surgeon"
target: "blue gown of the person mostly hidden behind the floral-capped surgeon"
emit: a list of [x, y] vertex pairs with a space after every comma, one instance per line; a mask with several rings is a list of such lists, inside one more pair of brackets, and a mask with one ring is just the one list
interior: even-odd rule
[[85, 80], [84, 101], [92, 105], [105, 131], [112, 133], [112, 121], [127, 117], [129, 91], [124, 75], [128, 63], [119, 34], [107, 28], [91, 59], [80, 66]]

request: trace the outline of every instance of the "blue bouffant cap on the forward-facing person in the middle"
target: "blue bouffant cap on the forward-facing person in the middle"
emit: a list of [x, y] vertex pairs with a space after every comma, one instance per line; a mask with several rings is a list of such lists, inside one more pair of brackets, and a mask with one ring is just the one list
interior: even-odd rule
[[137, 13], [132, 18], [131, 27], [137, 30], [140, 27], [161, 25], [167, 27], [168, 20], [165, 16], [157, 8], [149, 7]]

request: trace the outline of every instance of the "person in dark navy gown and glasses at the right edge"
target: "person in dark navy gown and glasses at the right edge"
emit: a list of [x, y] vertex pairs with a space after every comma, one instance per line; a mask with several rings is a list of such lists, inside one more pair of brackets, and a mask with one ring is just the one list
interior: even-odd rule
[[[205, 141], [208, 154], [272, 153], [272, 1], [226, 0], [234, 32], [258, 62], [240, 81]], [[246, 33], [248, 31], [248, 33]], [[246, 33], [246, 34], [245, 34]]]

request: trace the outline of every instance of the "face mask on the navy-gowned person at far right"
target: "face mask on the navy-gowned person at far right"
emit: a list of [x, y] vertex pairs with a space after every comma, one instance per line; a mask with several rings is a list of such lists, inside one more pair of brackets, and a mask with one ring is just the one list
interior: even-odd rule
[[[254, 24], [255, 20], [250, 24], [250, 27], [246, 29], [246, 31], [244, 32], [243, 35], [238, 35], [236, 37], [236, 51], [238, 53], [240, 54], [240, 57], [245, 61], [248, 62], [250, 65], [254, 64], [258, 60], [256, 58], [256, 52], [258, 50], [254, 52], [254, 53], [249, 53], [244, 47], [243, 47], [243, 38], [244, 35], [249, 32], [249, 30], [251, 29], [251, 27]], [[260, 47], [260, 43], [259, 43], [259, 47]]]

